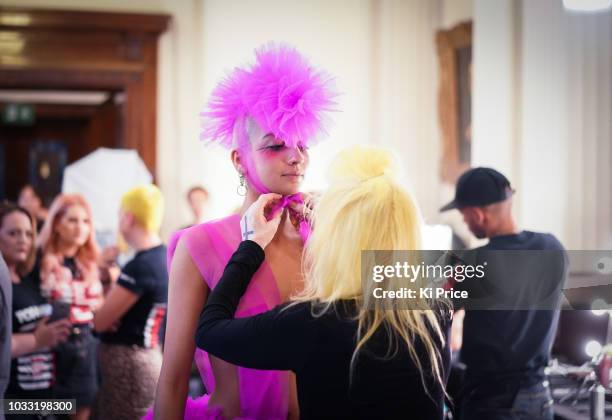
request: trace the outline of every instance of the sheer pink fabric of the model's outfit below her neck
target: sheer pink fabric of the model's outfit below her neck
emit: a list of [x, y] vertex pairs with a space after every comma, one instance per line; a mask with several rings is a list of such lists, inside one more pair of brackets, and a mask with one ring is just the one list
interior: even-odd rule
[[[216, 221], [192, 226], [176, 232], [168, 244], [168, 267], [179, 239], [182, 239], [204, 281], [213, 289], [219, 281], [225, 265], [241, 241], [240, 216], [232, 215]], [[281, 297], [270, 267], [264, 263], [251, 280], [240, 300], [236, 317], [255, 315], [279, 305]], [[208, 354], [196, 349], [195, 361], [208, 392], [215, 389], [215, 377]], [[261, 371], [237, 367], [240, 384], [241, 418], [285, 419], [289, 407], [289, 373]], [[185, 408], [185, 419], [221, 418], [220, 413], [205, 404], [208, 396], [190, 403]], [[196, 416], [196, 417], [194, 417]], [[215, 417], [217, 416], [217, 417]]]

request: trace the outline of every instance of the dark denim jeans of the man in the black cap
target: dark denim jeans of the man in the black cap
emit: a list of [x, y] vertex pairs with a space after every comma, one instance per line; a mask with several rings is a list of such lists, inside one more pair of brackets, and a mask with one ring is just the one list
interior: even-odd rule
[[462, 420], [553, 420], [553, 399], [548, 382], [512, 387], [491, 393], [475, 387], [464, 395]]

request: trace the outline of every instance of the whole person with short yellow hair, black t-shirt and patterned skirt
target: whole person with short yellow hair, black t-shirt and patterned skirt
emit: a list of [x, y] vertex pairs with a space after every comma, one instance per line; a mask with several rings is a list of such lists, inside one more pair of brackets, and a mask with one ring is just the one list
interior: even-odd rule
[[95, 411], [100, 419], [138, 419], [155, 397], [168, 295], [166, 247], [159, 237], [163, 212], [164, 198], [155, 185], [132, 188], [121, 199], [119, 231], [136, 255], [94, 318], [102, 333]]

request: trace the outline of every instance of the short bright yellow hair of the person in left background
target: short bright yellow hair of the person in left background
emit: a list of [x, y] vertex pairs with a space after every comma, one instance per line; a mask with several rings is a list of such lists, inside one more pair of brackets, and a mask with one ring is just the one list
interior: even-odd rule
[[121, 197], [121, 209], [134, 215], [147, 232], [159, 232], [164, 216], [164, 196], [153, 184], [134, 187]]

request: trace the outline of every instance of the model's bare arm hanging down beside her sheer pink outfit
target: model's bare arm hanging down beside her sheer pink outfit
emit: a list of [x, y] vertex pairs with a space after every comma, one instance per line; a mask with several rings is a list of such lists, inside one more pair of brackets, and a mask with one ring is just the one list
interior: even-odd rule
[[208, 288], [181, 239], [170, 269], [164, 360], [155, 397], [157, 420], [183, 419], [195, 351], [193, 333], [207, 294]]

